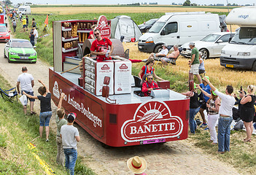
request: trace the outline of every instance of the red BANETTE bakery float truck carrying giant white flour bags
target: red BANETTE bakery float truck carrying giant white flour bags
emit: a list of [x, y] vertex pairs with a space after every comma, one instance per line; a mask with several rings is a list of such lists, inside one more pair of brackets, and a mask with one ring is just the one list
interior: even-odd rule
[[[77, 22], [72, 21], [71, 25]], [[68, 57], [63, 59], [66, 52], [56, 50], [60, 47], [63, 23], [66, 21], [53, 22], [54, 67], [49, 69], [49, 84], [55, 105], [61, 93], [65, 93], [62, 105], [66, 112], [77, 113], [78, 125], [112, 147], [187, 139], [189, 98], [169, 89], [139, 96], [141, 88], [136, 87], [131, 76], [131, 61], [116, 55], [115, 50], [123, 50], [119, 39], [111, 39], [115, 44], [112, 61], [97, 62], [85, 56], [79, 62], [81, 74], [63, 73], [63, 63]], [[76, 56], [72, 54], [69, 56]], [[105, 77], [110, 78], [112, 103], [102, 96]]]

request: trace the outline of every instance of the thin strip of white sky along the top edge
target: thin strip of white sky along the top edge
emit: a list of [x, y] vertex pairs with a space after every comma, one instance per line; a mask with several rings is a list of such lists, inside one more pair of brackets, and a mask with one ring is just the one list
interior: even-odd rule
[[[149, 4], [150, 2], [158, 2], [158, 4], [171, 4], [172, 2], [175, 2], [177, 4], [183, 3], [185, 0], [98, 0], [98, 1], [91, 1], [91, 0], [11, 0], [13, 4], [22, 3], [26, 1], [30, 1], [34, 4], [131, 4], [136, 2], [147, 2]], [[190, 0], [191, 3], [195, 4], [227, 4], [227, 0]], [[228, 0], [228, 3], [230, 4], [256, 4], [255, 0]]]

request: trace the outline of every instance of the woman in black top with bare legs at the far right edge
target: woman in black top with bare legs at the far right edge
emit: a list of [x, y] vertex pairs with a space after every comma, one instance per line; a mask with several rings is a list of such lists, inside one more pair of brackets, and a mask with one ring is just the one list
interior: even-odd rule
[[245, 96], [244, 90], [242, 90], [243, 98], [241, 98], [240, 104], [241, 105], [241, 111], [240, 111], [240, 117], [241, 120], [244, 121], [244, 126], [247, 131], [247, 138], [244, 139], [244, 141], [251, 141], [251, 136], [253, 132], [253, 117], [255, 116], [255, 86], [249, 85], [247, 87], [248, 95]]

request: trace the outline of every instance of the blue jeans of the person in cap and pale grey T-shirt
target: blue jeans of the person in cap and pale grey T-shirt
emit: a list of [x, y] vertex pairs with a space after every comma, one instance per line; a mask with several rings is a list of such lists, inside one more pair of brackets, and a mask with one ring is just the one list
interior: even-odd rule
[[69, 170], [70, 175], [74, 175], [74, 166], [77, 161], [77, 149], [64, 149], [65, 167]]

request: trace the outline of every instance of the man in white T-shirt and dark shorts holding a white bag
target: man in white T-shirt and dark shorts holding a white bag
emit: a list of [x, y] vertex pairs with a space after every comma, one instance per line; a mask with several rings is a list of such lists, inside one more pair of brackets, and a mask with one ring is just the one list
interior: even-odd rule
[[[26, 66], [23, 66], [21, 71], [23, 73], [18, 76], [18, 80], [17, 80], [18, 93], [20, 94], [20, 90], [21, 90], [21, 94], [23, 94], [23, 91], [25, 91], [25, 93], [31, 96], [34, 96], [34, 91], [33, 91], [34, 77], [31, 74], [27, 73], [28, 69], [26, 68]], [[36, 114], [36, 112], [34, 112], [35, 99], [33, 98], [28, 98], [28, 99], [30, 101], [30, 114]], [[27, 106], [23, 106], [23, 111], [24, 111], [24, 114], [27, 114]]]

